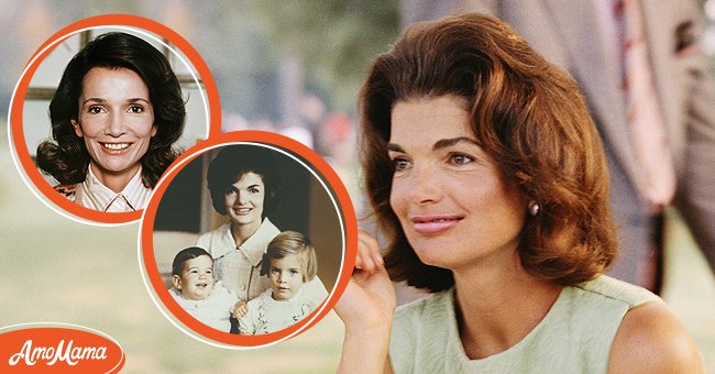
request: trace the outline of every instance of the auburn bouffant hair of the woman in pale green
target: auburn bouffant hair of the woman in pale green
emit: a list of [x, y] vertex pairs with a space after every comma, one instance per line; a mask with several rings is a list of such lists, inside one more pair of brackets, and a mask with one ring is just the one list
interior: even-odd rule
[[477, 144], [541, 207], [520, 235], [526, 271], [563, 285], [602, 273], [617, 251], [608, 172], [576, 84], [502, 21], [461, 14], [410, 26], [375, 59], [361, 91], [364, 182], [393, 279], [432, 292], [454, 284], [451, 271], [420, 262], [389, 206], [392, 109], [441, 96], [465, 100]]

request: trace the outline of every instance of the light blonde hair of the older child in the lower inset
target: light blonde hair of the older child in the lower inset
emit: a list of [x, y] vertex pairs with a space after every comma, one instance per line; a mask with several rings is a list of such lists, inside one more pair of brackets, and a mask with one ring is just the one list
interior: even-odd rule
[[306, 235], [297, 231], [284, 231], [271, 241], [266, 253], [263, 255], [261, 275], [271, 272], [272, 258], [283, 258], [289, 254], [298, 255], [298, 263], [302, 271], [302, 282], [312, 280], [318, 273], [316, 249], [310, 244], [310, 240]]

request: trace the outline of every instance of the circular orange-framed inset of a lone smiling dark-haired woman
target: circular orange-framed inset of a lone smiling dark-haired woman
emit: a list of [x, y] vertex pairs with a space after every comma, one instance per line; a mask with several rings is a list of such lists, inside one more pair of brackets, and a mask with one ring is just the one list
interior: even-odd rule
[[210, 92], [204, 62], [167, 28], [128, 15], [77, 22], [38, 50], [18, 84], [15, 162], [70, 218], [138, 220], [168, 166], [209, 136]]

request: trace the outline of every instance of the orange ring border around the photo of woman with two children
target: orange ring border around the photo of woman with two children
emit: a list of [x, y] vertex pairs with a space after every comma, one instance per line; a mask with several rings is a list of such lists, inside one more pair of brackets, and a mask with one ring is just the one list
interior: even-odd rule
[[[332, 293], [328, 295], [326, 300], [318, 307], [316, 310], [310, 314], [308, 317], [304, 318], [296, 324], [286, 328], [280, 331], [261, 334], [261, 336], [240, 336], [231, 334], [228, 332], [222, 332], [210, 328], [204, 323], [200, 323], [194, 317], [191, 317], [186, 310], [184, 310], [169, 295], [168, 289], [164, 285], [160, 271], [156, 266], [156, 258], [154, 257], [154, 245], [153, 245], [153, 228], [154, 219], [156, 217], [156, 210], [158, 209], [158, 204], [161, 197], [166, 191], [168, 184], [176, 177], [176, 175], [194, 158], [201, 155], [204, 152], [219, 145], [229, 145], [234, 143], [262, 143], [265, 145], [276, 146], [285, 151], [290, 151], [299, 156], [301, 156], [306, 163], [310, 164], [315, 172], [323, 178], [327, 187], [332, 188], [333, 197], [337, 197], [338, 208], [340, 211], [339, 215], [343, 218], [343, 229], [344, 229], [344, 249], [343, 249], [343, 261], [342, 267], [339, 273], [338, 282], [333, 287]], [[331, 191], [328, 190], [330, 194]], [[310, 328], [322, 319], [332, 307], [338, 302], [338, 299], [345, 290], [348, 282], [352, 275], [352, 268], [355, 265], [355, 256], [358, 253], [358, 220], [355, 216], [355, 210], [352, 205], [352, 200], [348, 195], [348, 190], [343, 185], [342, 180], [338, 174], [332, 169], [332, 167], [320, 157], [315, 151], [305, 146], [304, 144], [289, 139], [287, 136], [266, 132], [266, 131], [237, 131], [230, 133], [223, 133], [216, 136], [212, 136], [206, 141], [200, 142], [199, 144], [193, 146], [186, 151], [175, 163], [175, 166], [160, 180], [152, 199], [148, 202], [148, 206], [144, 210], [144, 216], [142, 217], [142, 226], [140, 228], [140, 271], [142, 275], [148, 275], [148, 282], [144, 277], [144, 284], [150, 290], [152, 298], [154, 298], [155, 304], [161, 308], [154, 295], [158, 297], [164, 307], [170, 311], [175, 318], [177, 318], [184, 326], [188, 327], [193, 332], [202, 336], [204, 338], [210, 339], [213, 342], [231, 344], [235, 348], [260, 348], [276, 343], [278, 341], [292, 338], [297, 336], [306, 329]], [[151, 288], [150, 288], [151, 287]], [[153, 292], [152, 292], [153, 288]], [[324, 306], [324, 307], [323, 307]], [[164, 311], [164, 310], [162, 310]], [[314, 318], [314, 316], [316, 316]], [[167, 316], [168, 317], [168, 316]], [[170, 318], [169, 318], [170, 320]], [[299, 330], [299, 331], [298, 331]], [[186, 331], [189, 332], [189, 331]], [[191, 334], [189, 332], [189, 334]], [[199, 337], [191, 334], [194, 338], [201, 340]], [[221, 345], [227, 348], [226, 345]]]

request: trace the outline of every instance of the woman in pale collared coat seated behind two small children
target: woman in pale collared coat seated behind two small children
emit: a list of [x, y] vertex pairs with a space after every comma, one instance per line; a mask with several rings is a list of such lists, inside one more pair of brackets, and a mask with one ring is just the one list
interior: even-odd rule
[[[271, 289], [271, 279], [262, 266], [268, 244], [280, 233], [268, 219], [277, 212], [280, 195], [274, 153], [258, 145], [227, 145], [207, 174], [213, 208], [229, 221], [202, 234], [196, 245], [213, 257], [216, 279], [244, 301]], [[305, 288], [316, 299], [328, 296], [318, 276], [311, 277]], [[239, 308], [239, 315], [243, 314], [245, 310]]]

